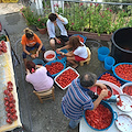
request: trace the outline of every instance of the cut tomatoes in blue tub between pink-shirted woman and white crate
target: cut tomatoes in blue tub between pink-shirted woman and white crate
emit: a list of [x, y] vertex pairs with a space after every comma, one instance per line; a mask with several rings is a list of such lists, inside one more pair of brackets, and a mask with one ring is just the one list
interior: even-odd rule
[[57, 74], [64, 69], [64, 65], [59, 62], [52, 63], [51, 65], [45, 65], [45, 67], [51, 75]]

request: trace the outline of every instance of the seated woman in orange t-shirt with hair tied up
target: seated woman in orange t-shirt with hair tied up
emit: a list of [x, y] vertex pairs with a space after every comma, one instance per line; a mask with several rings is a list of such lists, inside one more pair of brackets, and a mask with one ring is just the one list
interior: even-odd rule
[[[30, 55], [32, 58], [38, 57], [38, 52], [42, 50], [42, 52], [45, 52], [45, 47], [40, 40], [40, 37], [29, 28], [24, 30], [24, 35], [22, 36], [22, 48], [23, 48], [23, 61], [24, 64], [26, 64], [26, 55]], [[30, 51], [37, 48], [35, 54], [31, 54]]]

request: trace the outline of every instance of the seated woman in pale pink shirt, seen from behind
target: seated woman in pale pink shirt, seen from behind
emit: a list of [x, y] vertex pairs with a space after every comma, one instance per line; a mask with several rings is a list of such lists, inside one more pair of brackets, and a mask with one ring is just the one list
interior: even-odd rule
[[54, 80], [47, 76], [47, 69], [44, 66], [35, 65], [32, 61], [28, 61], [26, 72], [25, 80], [31, 82], [36, 91], [48, 90], [53, 87]]

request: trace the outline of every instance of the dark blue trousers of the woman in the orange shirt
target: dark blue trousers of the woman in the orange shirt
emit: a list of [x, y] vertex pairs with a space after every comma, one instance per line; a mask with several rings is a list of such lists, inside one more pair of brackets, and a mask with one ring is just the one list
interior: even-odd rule
[[[32, 46], [32, 47], [30, 47], [30, 46], [25, 46], [25, 50], [28, 51], [28, 52], [30, 52], [30, 51], [33, 51], [34, 48], [38, 48], [38, 46], [40, 46], [40, 44], [38, 43], [36, 43], [34, 46]], [[44, 52], [45, 51], [45, 47], [44, 47], [44, 45], [42, 46], [42, 48], [41, 48], [41, 51], [42, 52]], [[22, 53], [22, 57], [23, 58], [26, 58], [26, 53]]]

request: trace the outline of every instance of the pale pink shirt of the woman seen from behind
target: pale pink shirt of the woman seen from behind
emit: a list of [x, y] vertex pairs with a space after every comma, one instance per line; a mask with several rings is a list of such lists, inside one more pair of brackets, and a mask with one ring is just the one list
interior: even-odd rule
[[52, 88], [54, 81], [53, 79], [47, 76], [47, 69], [42, 66], [41, 68], [36, 69], [35, 73], [26, 75], [25, 80], [31, 82], [35, 90], [48, 90]]

